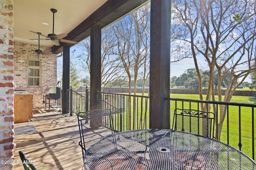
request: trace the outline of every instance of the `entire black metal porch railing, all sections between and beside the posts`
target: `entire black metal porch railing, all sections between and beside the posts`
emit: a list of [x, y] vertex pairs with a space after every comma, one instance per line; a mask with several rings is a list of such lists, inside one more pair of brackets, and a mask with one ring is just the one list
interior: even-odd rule
[[[87, 91], [87, 94], [88, 93], [89, 92]], [[77, 96], [80, 96], [77, 93], [75, 94]], [[102, 109], [108, 108], [112, 110], [114, 127], [116, 130], [127, 131], [134, 129], [149, 129], [149, 96], [106, 92], [98, 92], [98, 94], [101, 95], [102, 98]], [[79, 98], [80, 97], [74, 99], [73, 96], [72, 106], [74, 107], [77, 104], [78, 106], [80, 106], [76, 106], [74, 108], [82, 107], [81, 103], [83, 102], [81, 102], [81, 99]], [[82, 98], [86, 97], [83, 96]], [[86, 101], [88, 106], [89, 100]], [[217, 122], [219, 122], [220, 106], [225, 106], [226, 117], [224, 119], [221, 135], [218, 140], [222, 141], [223, 143], [227, 143], [228, 145], [231, 145], [236, 149], [241, 150], [255, 160], [255, 104], [214, 102], [178, 98], [166, 98], [165, 101], [170, 102], [170, 129], [172, 128], [174, 109], [176, 108], [202, 110], [201, 104], [203, 104], [204, 106], [206, 106], [204, 111], [214, 112], [216, 120], [218, 120]], [[74, 103], [76, 103], [76, 105]], [[85, 105], [86, 104], [83, 104], [83, 106]], [[214, 107], [216, 109], [213, 111]], [[83, 111], [85, 111], [86, 107], [82, 107], [82, 109]], [[218, 136], [219, 127], [220, 126], [218, 124], [214, 126], [216, 137]]]

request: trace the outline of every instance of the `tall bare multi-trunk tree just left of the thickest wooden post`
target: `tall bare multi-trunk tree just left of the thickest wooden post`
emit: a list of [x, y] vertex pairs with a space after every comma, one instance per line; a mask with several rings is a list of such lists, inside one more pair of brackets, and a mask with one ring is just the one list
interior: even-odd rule
[[[149, 63], [149, 37], [150, 37], [150, 5], [146, 4], [130, 15], [112, 24], [111, 29], [116, 36], [116, 48], [114, 54], [120, 59], [128, 76], [129, 94], [131, 94], [132, 80], [134, 80], [134, 95], [136, 95], [137, 80], [140, 72], [144, 80], [143, 88], [148, 79]], [[143, 90], [144, 91], [144, 90]], [[144, 94], [144, 92], [143, 92]], [[128, 98], [128, 105], [130, 98]], [[136, 98], [134, 98], [133, 119], [136, 119]], [[128, 117], [131, 110], [128, 108]], [[141, 114], [142, 115], [142, 114]], [[130, 129], [130, 119], [128, 119], [128, 129]], [[136, 127], [136, 123], [133, 124]]]

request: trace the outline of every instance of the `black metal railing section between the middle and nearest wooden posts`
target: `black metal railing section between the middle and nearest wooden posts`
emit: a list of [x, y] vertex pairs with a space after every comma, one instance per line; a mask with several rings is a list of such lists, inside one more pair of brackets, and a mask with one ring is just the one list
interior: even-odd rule
[[149, 96], [99, 92], [102, 108], [113, 112], [114, 127], [118, 131], [149, 128]]

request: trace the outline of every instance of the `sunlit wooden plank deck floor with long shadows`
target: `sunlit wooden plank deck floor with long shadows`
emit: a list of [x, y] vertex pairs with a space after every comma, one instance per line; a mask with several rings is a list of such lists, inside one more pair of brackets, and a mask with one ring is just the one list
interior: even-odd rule
[[38, 170], [82, 170], [82, 150], [77, 117], [56, 111], [36, 110], [33, 118], [14, 127], [34, 125], [38, 133], [15, 135], [14, 170], [24, 170], [19, 150], [35, 161]]

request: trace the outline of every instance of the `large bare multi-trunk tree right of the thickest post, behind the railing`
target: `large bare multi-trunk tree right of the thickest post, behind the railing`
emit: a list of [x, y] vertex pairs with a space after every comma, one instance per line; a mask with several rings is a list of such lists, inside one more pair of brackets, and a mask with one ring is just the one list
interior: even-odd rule
[[[190, 44], [199, 81], [200, 100], [202, 77], [199, 70], [201, 58], [209, 67], [209, 85], [205, 100], [230, 102], [236, 88], [254, 70], [256, 38], [256, 1], [255, 0], [173, 0], [172, 17], [182, 27], [176, 41]], [[176, 32], [178, 33], [178, 32]], [[175, 44], [174, 48], [175, 48]], [[183, 54], [181, 54], [183, 55]], [[242, 67], [242, 69], [237, 69]], [[214, 94], [214, 70], [217, 70], [217, 99]], [[221, 95], [222, 78], [230, 74], [226, 94]], [[236, 84], [238, 78], [241, 81]], [[213, 105], [216, 113], [216, 106]], [[202, 110], [206, 106], [201, 105]], [[226, 106], [220, 105], [218, 139], [226, 117]]]

